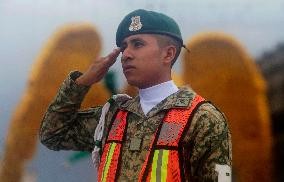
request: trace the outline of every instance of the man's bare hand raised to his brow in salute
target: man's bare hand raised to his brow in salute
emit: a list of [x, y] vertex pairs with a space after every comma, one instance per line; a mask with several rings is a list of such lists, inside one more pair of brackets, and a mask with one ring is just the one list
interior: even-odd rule
[[94, 60], [87, 71], [76, 79], [76, 83], [79, 85], [91, 86], [92, 84], [99, 82], [107, 73], [108, 69], [115, 63], [117, 56], [120, 53], [120, 48], [114, 49], [106, 57], [100, 57]]

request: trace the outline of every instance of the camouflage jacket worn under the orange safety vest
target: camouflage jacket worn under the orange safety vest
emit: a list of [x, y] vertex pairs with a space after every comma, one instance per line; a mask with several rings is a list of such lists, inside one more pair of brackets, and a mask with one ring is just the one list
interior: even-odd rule
[[[44, 115], [40, 128], [41, 142], [52, 150], [92, 151], [94, 131], [101, 106], [80, 111], [89, 87], [77, 85], [73, 72], [63, 82]], [[126, 140], [122, 148], [119, 181], [137, 181], [151, 138], [165, 116], [174, 107], [189, 107], [195, 93], [181, 88], [144, 115], [139, 96], [124, 103], [114, 103], [106, 116], [103, 145], [108, 125], [116, 111], [129, 111]], [[216, 164], [232, 166], [231, 135], [223, 114], [212, 104], [204, 103], [195, 112], [183, 143], [183, 166], [187, 181], [218, 181]], [[141, 150], [129, 149], [132, 138], [142, 139]], [[228, 175], [228, 174], [227, 174]]]

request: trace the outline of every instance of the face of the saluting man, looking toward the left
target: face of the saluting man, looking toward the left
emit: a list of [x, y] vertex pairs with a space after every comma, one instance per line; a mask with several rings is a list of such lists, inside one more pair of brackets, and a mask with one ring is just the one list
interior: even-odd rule
[[165, 51], [153, 35], [129, 36], [123, 40], [121, 49], [123, 73], [130, 85], [147, 88], [165, 81]]

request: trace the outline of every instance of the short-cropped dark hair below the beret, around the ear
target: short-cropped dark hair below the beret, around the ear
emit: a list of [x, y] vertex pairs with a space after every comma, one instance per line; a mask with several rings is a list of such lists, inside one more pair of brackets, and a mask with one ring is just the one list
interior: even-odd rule
[[161, 48], [169, 46], [169, 45], [175, 46], [176, 55], [175, 55], [174, 59], [172, 60], [172, 64], [171, 64], [171, 66], [173, 66], [174, 63], [176, 62], [178, 56], [180, 55], [180, 51], [181, 51], [181, 47], [182, 47], [180, 41], [176, 40], [173, 37], [167, 36], [167, 35], [162, 35], [162, 34], [153, 34], [153, 35], [157, 39], [158, 45]]

